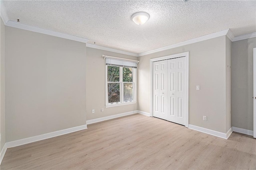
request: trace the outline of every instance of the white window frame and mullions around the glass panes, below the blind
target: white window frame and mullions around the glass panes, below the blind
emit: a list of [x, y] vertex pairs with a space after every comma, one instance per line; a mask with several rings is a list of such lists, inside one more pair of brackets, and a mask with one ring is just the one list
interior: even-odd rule
[[[113, 65], [114, 66], [114, 65]], [[132, 68], [132, 83], [133, 83], [133, 101], [126, 101], [124, 102], [124, 83], [131, 83], [131, 82], [123, 82], [123, 67], [119, 67], [119, 83], [120, 83], [120, 102], [118, 103], [108, 103], [108, 65], [105, 66], [106, 67], [106, 79], [105, 79], [105, 96], [106, 96], [106, 108], [108, 107], [116, 107], [116, 106], [122, 106], [122, 105], [131, 105], [131, 104], [135, 104], [137, 103], [137, 69], [136, 68]], [[113, 82], [116, 83], [116, 82]]]

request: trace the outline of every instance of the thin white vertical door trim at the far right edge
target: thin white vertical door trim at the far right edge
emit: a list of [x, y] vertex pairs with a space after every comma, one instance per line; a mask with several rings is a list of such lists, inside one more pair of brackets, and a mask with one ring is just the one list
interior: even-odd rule
[[253, 49], [253, 137], [256, 138], [256, 48]]

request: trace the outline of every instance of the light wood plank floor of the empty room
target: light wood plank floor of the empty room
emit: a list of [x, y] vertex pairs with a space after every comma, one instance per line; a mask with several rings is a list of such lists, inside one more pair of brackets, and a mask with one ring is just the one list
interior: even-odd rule
[[228, 140], [162, 119], [130, 115], [9, 148], [5, 169], [256, 169], [256, 140]]

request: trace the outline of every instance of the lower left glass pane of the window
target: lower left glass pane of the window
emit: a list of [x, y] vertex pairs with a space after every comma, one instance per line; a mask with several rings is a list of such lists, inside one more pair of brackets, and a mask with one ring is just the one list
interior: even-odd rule
[[108, 103], [120, 102], [120, 83], [108, 83]]

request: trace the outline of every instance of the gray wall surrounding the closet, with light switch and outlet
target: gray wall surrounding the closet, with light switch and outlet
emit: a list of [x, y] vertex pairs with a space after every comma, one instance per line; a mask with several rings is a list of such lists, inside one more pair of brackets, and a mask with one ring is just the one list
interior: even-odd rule
[[[226, 133], [226, 36], [139, 57], [138, 110], [150, 112], [150, 59], [186, 51], [189, 124]], [[196, 85], [200, 85], [200, 91]], [[203, 115], [207, 121], [203, 121]]]

